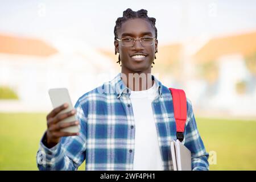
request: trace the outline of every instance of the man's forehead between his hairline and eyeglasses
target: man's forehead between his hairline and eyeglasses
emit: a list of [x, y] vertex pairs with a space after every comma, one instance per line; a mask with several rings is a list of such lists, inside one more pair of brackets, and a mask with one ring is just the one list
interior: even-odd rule
[[118, 31], [118, 37], [126, 34], [141, 36], [144, 33], [151, 33], [151, 36], [154, 36], [155, 30], [151, 26], [151, 23], [148, 22], [148, 20], [142, 18], [135, 18], [129, 19], [126, 22], [122, 23], [122, 26]]

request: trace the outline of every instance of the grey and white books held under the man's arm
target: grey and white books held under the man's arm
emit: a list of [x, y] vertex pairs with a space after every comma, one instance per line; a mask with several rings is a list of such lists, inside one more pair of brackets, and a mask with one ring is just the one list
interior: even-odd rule
[[180, 142], [171, 141], [172, 163], [174, 171], [191, 171], [191, 151]]

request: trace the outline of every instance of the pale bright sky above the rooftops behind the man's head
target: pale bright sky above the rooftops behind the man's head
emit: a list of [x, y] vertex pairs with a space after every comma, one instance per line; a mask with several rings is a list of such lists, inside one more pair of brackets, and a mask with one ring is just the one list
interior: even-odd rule
[[79, 39], [112, 48], [115, 20], [127, 8], [156, 18], [159, 45], [256, 31], [256, 1], [0, 0], [0, 34], [48, 41]]

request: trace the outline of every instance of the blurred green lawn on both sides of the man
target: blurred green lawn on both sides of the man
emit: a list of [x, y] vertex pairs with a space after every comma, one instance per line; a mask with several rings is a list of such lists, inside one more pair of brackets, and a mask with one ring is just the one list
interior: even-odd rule
[[[0, 125], [0, 170], [38, 170], [46, 114], [0, 113]], [[210, 170], [256, 170], [255, 121], [197, 118], [197, 127], [207, 151], [217, 153]]]

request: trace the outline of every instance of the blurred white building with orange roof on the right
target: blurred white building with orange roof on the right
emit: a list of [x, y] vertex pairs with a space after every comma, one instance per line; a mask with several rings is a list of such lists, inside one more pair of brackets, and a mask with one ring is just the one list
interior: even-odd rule
[[207, 80], [198, 96], [201, 109], [256, 115], [256, 32], [210, 39], [193, 60]]

